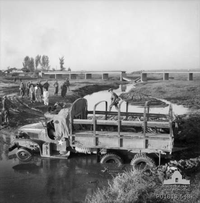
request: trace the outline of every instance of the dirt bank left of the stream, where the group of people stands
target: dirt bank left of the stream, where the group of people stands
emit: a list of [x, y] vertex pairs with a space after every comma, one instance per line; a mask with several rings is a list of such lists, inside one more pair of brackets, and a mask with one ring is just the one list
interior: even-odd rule
[[[25, 81], [26, 82], [26, 81]], [[44, 81], [43, 81], [44, 82]], [[120, 81], [102, 81], [102, 80], [90, 80], [90, 81], [71, 81], [70, 90], [67, 92], [65, 98], [62, 98], [59, 94], [54, 95], [53, 83], [55, 81], [49, 81], [50, 88], [50, 104], [53, 106], [56, 102], [72, 103], [80, 97], [92, 94], [101, 90], [107, 90], [109, 88], [118, 88]], [[33, 81], [37, 83], [37, 81]], [[61, 86], [63, 81], [59, 81]], [[0, 83], [0, 109], [2, 108], [2, 96], [7, 95], [10, 106], [10, 130], [17, 126], [25, 125], [27, 123], [38, 122], [38, 119], [42, 119], [48, 107], [44, 106], [43, 102], [31, 103], [27, 96], [23, 98], [19, 96], [19, 83]]]

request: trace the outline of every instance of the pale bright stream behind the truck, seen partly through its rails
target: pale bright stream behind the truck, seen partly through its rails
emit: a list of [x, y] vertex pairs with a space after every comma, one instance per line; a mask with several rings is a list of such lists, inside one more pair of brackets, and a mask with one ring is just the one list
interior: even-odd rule
[[[131, 88], [134, 88], [133, 84], [128, 85], [121, 85], [118, 89], [114, 90], [115, 93], [120, 95], [122, 92], [128, 92]], [[84, 98], [88, 101], [88, 109], [93, 110], [94, 105], [98, 103], [99, 101], [107, 101], [108, 105], [110, 104], [110, 92], [106, 91], [100, 91], [93, 93], [91, 95], [87, 95]], [[169, 104], [170, 102], [160, 99], [163, 102], [166, 102]], [[189, 110], [188, 108], [185, 108], [182, 105], [172, 104], [173, 112], [176, 115], [181, 115], [187, 113]], [[130, 112], [141, 112], [143, 113], [144, 107], [142, 106], [135, 106], [135, 105], [129, 105], [128, 107]], [[97, 110], [105, 110], [105, 103], [101, 103], [97, 106]], [[115, 107], [112, 108], [112, 111], [116, 111]], [[126, 111], [126, 104], [125, 102], [121, 106], [121, 111]], [[169, 106], [167, 107], [152, 107], [150, 108], [150, 113], [160, 113], [160, 114], [167, 114], [169, 112]]]

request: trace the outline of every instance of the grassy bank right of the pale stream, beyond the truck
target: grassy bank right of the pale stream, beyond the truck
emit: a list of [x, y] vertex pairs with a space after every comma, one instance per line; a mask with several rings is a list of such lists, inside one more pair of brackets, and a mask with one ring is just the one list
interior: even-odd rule
[[172, 103], [183, 105], [193, 110], [200, 109], [200, 82], [183, 80], [152, 80], [136, 84], [128, 93], [122, 97], [126, 101], [133, 101], [141, 95], [142, 97], [154, 97], [168, 100]]

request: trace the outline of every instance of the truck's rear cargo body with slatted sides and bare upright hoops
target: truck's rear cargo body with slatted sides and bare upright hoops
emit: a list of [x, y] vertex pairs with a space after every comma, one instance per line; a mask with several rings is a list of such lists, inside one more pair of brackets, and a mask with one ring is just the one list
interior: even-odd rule
[[[105, 104], [105, 111], [96, 110], [101, 103]], [[145, 103], [143, 113], [128, 112], [128, 104], [126, 104], [126, 112], [121, 112], [120, 109], [123, 103], [124, 101], [119, 104], [117, 112], [107, 111], [107, 101], [98, 102], [94, 106], [93, 111], [87, 110], [87, 101], [84, 101], [84, 99], [79, 99], [73, 103], [69, 136], [71, 146], [96, 149], [97, 153], [101, 149], [106, 149], [109, 155], [104, 155], [101, 158], [101, 163], [110, 161], [110, 159], [121, 162], [120, 151], [131, 152], [135, 155], [131, 161], [132, 165], [139, 163], [138, 160], [146, 160], [148, 163], [153, 163], [153, 161], [149, 161], [150, 158], [147, 154], [158, 155], [160, 163], [161, 155], [171, 154], [174, 150], [172, 106], [169, 106], [169, 113], [165, 115], [149, 113], [150, 102]], [[88, 119], [89, 114], [92, 115], [90, 119]], [[102, 115], [103, 119], [99, 119], [99, 115]], [[110, 115], [117, 117], [117, 119], [108, 120]], [[143, 119], [139, 121], [127, 120], [130, 116], [142, 117]], [[122, 117], [124, 118], [123, 120]], [[164, 120], [155, 120], [155, 118], [164, 118]], [[76, 126], [83, 126], [83, 128], [77, 130]], [[102, 129], [99, 130], [99, 126]], [[107, 130], [106, 126], [115, 126], [115, 131]], [[122, 131], [123, 127], [141, 128], [141, 131]], [[166, 132], [148, 132], [148, 128], [166, 129]]]

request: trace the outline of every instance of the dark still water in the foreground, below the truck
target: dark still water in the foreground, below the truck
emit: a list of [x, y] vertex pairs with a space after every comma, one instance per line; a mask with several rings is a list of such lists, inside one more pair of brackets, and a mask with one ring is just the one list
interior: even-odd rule
[[95, 155], [74, 155], [68, 160], [34, 157], [27, 163], [8, 156], [10, 135], [0, 132], [0, 203], [78, 203], [111, 175]]

